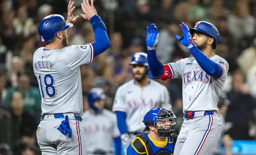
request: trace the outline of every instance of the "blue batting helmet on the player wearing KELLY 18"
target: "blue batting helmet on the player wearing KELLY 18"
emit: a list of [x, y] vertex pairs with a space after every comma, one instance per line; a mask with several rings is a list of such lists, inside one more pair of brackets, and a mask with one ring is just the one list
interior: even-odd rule
[[66, 23], [62, 15], [48, 15], [40, 21], [38, 32], [42, 42], [50, 42], [57, 32], [72, 26], [73, 24]]

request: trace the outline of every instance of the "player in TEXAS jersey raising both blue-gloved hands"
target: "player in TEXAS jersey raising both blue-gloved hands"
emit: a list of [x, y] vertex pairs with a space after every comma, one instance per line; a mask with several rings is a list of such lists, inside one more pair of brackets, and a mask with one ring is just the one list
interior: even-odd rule
[[219, 41], [219, 31], [214, 25], [200, 21], [189, 29], [182, 22], [180, 28], [183, 36], [176, 36], [176, 39], [193, 57], [162, 64], [155, 51], [158, 29], [154, 24], [150, 24], [150, 28], [147, 26], [149, 75], [163, 81], [182, 78], [184, 121], [174, 155], [207, 155], [221, 134], [217, 103], [229, 65], [225, 59], [213, 54], [212, 49]]

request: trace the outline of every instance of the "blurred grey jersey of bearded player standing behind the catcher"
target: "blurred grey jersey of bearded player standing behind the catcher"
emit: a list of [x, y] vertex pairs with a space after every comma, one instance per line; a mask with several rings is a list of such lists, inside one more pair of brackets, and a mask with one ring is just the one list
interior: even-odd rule
[[145, 129], [144, 115], [155, 107], [171, 110], [167, 88], [154, 80], [145, 87], [139, 87], [131, 80], [117, 89], [112, 111], [126, 113], [127, 132], [142, 132]]

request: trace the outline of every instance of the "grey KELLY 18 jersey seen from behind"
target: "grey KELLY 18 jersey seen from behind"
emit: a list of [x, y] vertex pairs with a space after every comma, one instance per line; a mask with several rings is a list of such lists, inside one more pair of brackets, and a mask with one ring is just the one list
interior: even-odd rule
[[42, 115], [83, 113], [80, 66], [92, 62], [91, 43], [35, 51], [33, 69], [42, 95]]

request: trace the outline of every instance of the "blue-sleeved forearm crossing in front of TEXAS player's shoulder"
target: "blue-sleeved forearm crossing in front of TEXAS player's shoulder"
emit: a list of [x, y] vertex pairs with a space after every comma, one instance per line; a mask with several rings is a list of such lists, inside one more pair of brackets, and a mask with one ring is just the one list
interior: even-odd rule
[[219, 78], [223, 74], [221, 66], [216, 62], [209, 59], [202, 53], [197, 47], [192, 47], [189, 49], [190, 53], [194, 56], [199, 66], [207, 73], [209, 76]]

